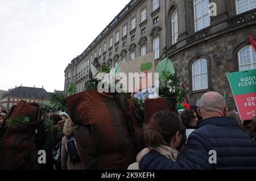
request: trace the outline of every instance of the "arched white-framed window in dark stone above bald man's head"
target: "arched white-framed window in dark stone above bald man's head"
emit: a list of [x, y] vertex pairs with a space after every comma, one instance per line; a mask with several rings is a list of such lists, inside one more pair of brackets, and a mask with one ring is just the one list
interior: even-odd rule
[[200, 58], [192, 64], [193, 91], [208, 89], [207, 60]]

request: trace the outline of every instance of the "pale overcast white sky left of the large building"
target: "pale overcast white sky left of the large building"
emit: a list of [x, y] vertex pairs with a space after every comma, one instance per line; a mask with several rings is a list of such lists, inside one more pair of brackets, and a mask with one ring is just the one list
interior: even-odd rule
[[0, 90], [64, 90], [64, 70], [130, 0], [0, 0]]

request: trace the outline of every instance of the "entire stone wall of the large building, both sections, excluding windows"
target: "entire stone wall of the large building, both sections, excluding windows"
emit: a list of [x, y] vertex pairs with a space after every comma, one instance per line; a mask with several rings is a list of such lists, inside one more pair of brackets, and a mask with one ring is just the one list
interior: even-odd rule
[[[160, 37], [160, 55], [161, 58], [168, 57], [174, 62], [176, 73], [180, 75], [182, 81], [187, 87], [189, 102], [195, 104], [206, 91], [218, 91], [222, 95], [228, 92], [228, 106], [234, 108], [235, 103], [226, 73], [239, 71], [238, 52], [241, 48], [249, 45], [249, 35], [256, 37], [256, 9], [252, 9], [241, 14], [237, 14], [236, 0], [210, 0], [217, 5], [217, 16], [210, 16], [210, 25], [200, 31], [195, 31], [195, 10], [194, 0], [167, 0], [159, 1], [160, 9], [152, 13], [152, 1], [131, 1], [133, 6], [117, 20], [117, 24], [108, 27], [108, 31], [102, 34], [98, 41], [94, 41], [83, 54], [72, 60], [71, 64], [65, 70], [73, 71], [81, 62], [85, 62], [90, 55], [102, 47], [107, 42], [107, 52], [98, 57], [98, 63], [101, 66], [104, 62], [108, 64], [109, 58], [114, 60], [115, 54], [118, 54], [118, 61], [122, 58], [122, 50], [127, 51], [126, 60], [129, 60], [131, 49], [130, 45], [134, 43], [136, 57], [140, 54], [140, 40], [146, 37], [147, 53], [152, 52], [153, 35]], [[147, 23], [140, 26], [141, 10], [147, 7]], [[172, 44], [172, 24], [171, 18], [173, 12], [177, 10], [178, 21], [178, 39], [177, 43]], [[137, 16], [137, 30], [134, 32], [135, 40], [131, 42], [130, 26], [131, 18]], [[159, 16], [159, 22], [153, 24], [152, 21]], [[127, 23], [127, 45], [122, 47], [122, 27]], [[112, 23], [110, 23], [112, 24]], [[146, 27], [146, 33], [141, 35], [141, 30]], [[105, 29], [106, 30], [106, 29]], [[104, 31], [105, 31], [104, 30]], [[117, 47], [119, 50], [114, 52], [115, 46], [109, 49], [109, 38], [119, 30], [120, 40]], [[103, 32], [104, 32], [103, 31]], [[90, 48], [91, 47], [91, 48]], [[112, 56], [109, 56], [112, 52]], [[106, 60], [103, 60], [103, 57]], [[159, 58], [156, 63], [161, 60]], [[204, 90], [193, 91], [192, 64], [199, 58], [207, 60], [208, 65], [208, 88]], [[95, 61], [94, 61], [95, 62]], [[110, 62], [110, 61], [109, 61]], [[114, 65], [114, 61], [111, 62]], [[95, 64], [94, 64], [95, 65]], [[97, 66], [97, 64], [96, 64]], [[73, 69], [73, 70], [72, 70]], [[85, 68], [86, 69], [86, 68]], [[69, 80], [76, 83], [85, 81], [88, 78], [88, 71], [84, 74], [74, 74]], [[65, 89], [67, 88], [65, 84]]]

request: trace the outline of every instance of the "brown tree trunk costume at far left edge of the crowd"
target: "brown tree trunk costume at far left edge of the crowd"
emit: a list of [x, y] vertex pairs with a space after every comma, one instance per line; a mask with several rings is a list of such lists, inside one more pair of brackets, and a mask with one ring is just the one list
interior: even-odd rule
[[[38, 169], [38, 153], [34, 144], [34, 137], [41, 108], [34, 107], [21, 100], [11, 108], [0, 131], [0, 169], [6, 170], [35, 170]], [[30, 123], [10, 128], [7, 119], [27, 116]]]

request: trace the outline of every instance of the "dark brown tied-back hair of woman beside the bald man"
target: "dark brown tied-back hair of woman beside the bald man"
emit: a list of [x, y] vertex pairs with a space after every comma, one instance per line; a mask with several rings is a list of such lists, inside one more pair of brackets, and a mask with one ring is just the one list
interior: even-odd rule
[[157, 112], [144, 128], [144, 144], [148, 147], [168, 146], [177, 132], [185, 133], [181, 126], [182, 123], [175, 113]]

